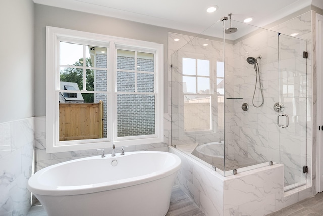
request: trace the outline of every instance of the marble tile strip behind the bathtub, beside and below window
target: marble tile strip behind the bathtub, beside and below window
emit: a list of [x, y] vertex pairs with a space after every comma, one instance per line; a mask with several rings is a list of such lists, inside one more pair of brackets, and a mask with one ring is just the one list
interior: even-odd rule
[[[57, 163], [79, 159], [83, 157], [98, 155], [96, 149], [82, 150], [82, 151], [70, 151], [59, 153], [46, 153], [46, 117], [35, 117], [35, 171], [39, 171], [50, 165]], [[167, 139], [166, 139], [167, 141]], [[135, 145], [125, 148], [127, 151], [168, 151], [167, 143], [155, 143], [145, 145]], [[119, 153], [121, 149], [116, 148], [116, 152]], [[107, 154], [111, 153], [111, 149], [106, 149]]]

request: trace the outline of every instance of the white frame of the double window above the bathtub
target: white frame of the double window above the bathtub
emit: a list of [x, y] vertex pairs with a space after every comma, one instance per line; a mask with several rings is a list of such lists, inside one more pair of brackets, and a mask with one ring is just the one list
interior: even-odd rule
[[[58, 38], [69, 39], [70, 41], [84, 41], [89, 45], [106, 47], [108, 50], [108, 76], [107, 91], [108, 97], [108, 131], [107, 138], [59, 141], [59, 53]], [[161, 143], [164, 140], [163, 126], [163, 44], [141, 40], [113, 37], [89, 32], [75, 31], [57, 27], [46, 26], [46, 149], [47, 153], [67, 152], [77, 150], [89, 150], [99, 148], [110, 148], [112, 143], [118, 146], [130, 146], [150, 143]], [[155, 135], [135, 136], [117, 139], [117, 113], [116, 106], [116, 48], [128, 47], [136, 50], [154, 51], [155, 55]], [[83, 90], [84, 91], [84, 90]], [[97, 91], [93, 91], [97, 92]], [[84, 91], [84, 93], [93, 93]], [[100, 91], [100, 93], [102, 93]], [[109, 106], [111, 105], [111, 106]]]

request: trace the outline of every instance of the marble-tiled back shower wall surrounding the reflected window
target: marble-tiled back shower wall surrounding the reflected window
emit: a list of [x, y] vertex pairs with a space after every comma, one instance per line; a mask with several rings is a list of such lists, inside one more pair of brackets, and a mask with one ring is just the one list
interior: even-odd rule
[[[179, 41], [174, 41], [177, 38]], [[208, 46], [202, 46], [207, 43]], [[233, 45], [228, 44], [226, 46], [225, 54], [225, 67], [226, 67], [226, 77], [233, 77]], [[169, 68], [169, 113], [171, 113], [170, 118], [172, 119], [171, 135], [173, 145], [185, 145], [194, 143], [209, 143], [214, 141], [223, 140], [223, 125], [219, 125], [214, 132], [203, 133], [201, 136], [200, 132], [185, 132], [184, 128], [184, 94], [183, 94], [183, 80], [182, 80], [182, 58], [200, 58], [209, 59], [211, 65], [216, 65], [216, 62], [223, 62], [223, 42], [213, 41], [202, 38], [194, 38], [192, 36], [186, 36], [175, 33], [168, 33], [168, 62], [172, 64], [172, 69]], [[214, 69], [215, 71], [215, 69]], [[211, 83], [216, 83], [216, 78], [211, 77]], [[232, 79], [228, 78], [226, 83], [228, 84]], [[214, 87], [216, 88], [216, 87]], [[216, 93], [216, 90], [214, 90]], [[233, 88], [227, 88], [226, 94], [228, 97], [233, 96]], [[214, 97], [215, 96], [215, 97]], [[212, 100], [217, 100], [217, 95], [212, 95]], [[217, 112], [216, 103], [212, 103], [211, 109], [213, 113]], [[222, 114], [223, 115], [223, 114]], [[233, 109], [231, 104], [226, 104], [226, 118], [225, 121], [228, 126], [232, 129], [231, 132], [227, 132], [227, 139], [233, 139]], [[229, 127], [228, 127], [229, 128]], [[226, 153], [229, 154], [228, 149]]]

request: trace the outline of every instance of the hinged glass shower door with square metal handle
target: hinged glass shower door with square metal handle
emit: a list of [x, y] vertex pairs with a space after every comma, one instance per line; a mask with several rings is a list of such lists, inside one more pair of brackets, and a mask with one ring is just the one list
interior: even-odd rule
[[[284, 190], [306, 184], [307, 77], [306, 41], [278, 33], [278, 102], [280, 163]], [[305, 52], [305, 53], [304, 53]]]

